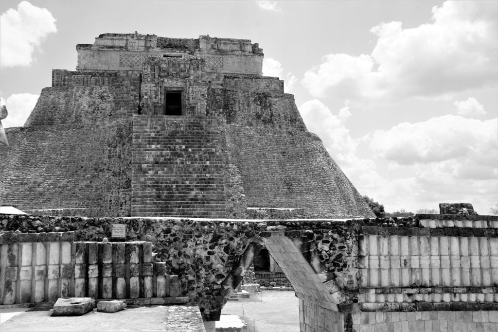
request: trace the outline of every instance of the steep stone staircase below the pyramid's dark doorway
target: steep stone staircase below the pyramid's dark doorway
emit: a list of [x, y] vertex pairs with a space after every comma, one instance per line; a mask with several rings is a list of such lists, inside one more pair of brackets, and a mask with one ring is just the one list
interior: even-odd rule
[[133, 117], [132, 217], [226, 217], [222, 121]]

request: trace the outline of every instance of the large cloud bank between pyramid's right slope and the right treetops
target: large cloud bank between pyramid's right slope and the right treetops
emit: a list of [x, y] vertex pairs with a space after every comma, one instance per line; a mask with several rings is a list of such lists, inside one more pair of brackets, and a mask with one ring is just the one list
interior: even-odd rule
[[[311, 100], [299, 111], [358, 191], [384, 204], [386, 211], [469, 202], [485, 214], [496, 204], [497, 118], [445, 115], [354, 138], [347, 127], [349, 103], [332, 112]], [[362, 144], [371, 148], [371, 159], [360, 157]]]

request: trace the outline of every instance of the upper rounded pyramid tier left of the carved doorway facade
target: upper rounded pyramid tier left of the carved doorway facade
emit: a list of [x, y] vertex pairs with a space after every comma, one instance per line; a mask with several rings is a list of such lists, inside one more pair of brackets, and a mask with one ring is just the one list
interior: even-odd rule
[[25, 126], [102, 123], [136, 114], [139, 76], [114, 73], [52, 71], [52, 88], [42, 90]]

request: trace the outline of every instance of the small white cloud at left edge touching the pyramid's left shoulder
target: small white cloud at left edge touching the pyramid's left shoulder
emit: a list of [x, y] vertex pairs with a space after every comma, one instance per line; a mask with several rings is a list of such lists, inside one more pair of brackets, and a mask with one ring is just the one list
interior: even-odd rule
[[7, 100], [0, 98], [0, 105], [5, 105], [8, 112], [7, 117], [2, 120], [3, 127], [20, 127], [24, 125], [35, 107], [38, 97], [40, 96], [32, 94], [13, 94]]

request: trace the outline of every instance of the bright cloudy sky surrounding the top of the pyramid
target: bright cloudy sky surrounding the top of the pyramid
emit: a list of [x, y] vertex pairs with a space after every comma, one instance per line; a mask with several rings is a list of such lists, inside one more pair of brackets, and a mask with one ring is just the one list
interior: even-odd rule
[[308, 129], [387, 211], [498, 201], [498, 1], [0, 2], [0, 97], [20, 126], [105, 32], [251, 39]]

